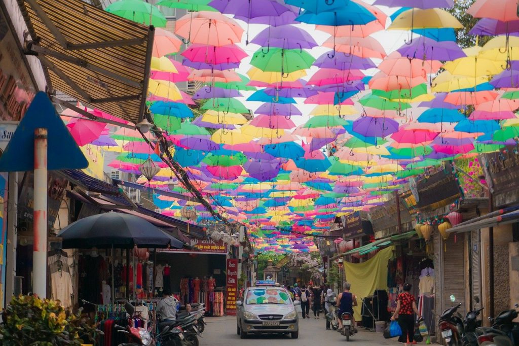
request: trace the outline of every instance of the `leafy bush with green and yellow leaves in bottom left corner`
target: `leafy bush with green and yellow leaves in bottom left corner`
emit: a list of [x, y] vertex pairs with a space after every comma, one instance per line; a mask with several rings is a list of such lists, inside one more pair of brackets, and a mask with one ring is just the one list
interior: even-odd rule
[[[94, 340], [95, 328], [80, 311], [61, 307], [59, 301], [35, 296], [13, 297], [0, 326], [0, 344], [6, 346], [80, 345]], [[87, 342], [88, 343], [88, 342]]]

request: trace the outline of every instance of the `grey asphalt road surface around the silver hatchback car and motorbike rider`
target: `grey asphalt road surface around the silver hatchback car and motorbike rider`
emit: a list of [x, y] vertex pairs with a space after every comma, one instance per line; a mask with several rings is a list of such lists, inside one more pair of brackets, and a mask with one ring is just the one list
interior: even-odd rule
[[[291, 339], [285, 335], [249, 336], [240, 339], [236, 334], [236, 317], [206, 317], [208, 325], [200, 338], [200, 345], [207, 346], [265, 346], [265, 345], [297, 345], [297, 346], [338, 346], [346, 343], [343, 337], [335, 330], [326, 330], [326, 322], [321, 317], [315, 320], [299, 319], [299, 339]], [[386, 340], [382, 333], [360, 330], [347, 344], [356, 346], [367, 345], [401, 345], [396, 340]], [[422, 342], [425, 344], [425, 342]]]

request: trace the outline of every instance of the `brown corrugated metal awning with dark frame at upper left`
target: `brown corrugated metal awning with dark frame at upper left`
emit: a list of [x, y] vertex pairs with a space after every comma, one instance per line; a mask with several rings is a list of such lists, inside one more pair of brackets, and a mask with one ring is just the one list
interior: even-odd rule
[[81, 0], [18, 0], [37, 55], [56, 89], [133, 123], [144, 114], [153, 26]]

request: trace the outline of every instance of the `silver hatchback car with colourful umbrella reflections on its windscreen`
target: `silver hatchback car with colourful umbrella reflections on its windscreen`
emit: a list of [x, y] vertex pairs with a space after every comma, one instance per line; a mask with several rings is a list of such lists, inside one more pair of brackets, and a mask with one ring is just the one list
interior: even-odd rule
[[236, 302], [237, 332], [242, 339], [250, 333], [290, 334], [299, 337], [299, 318], [293, 301], [284, 287], [248, 287], [243, 300]]

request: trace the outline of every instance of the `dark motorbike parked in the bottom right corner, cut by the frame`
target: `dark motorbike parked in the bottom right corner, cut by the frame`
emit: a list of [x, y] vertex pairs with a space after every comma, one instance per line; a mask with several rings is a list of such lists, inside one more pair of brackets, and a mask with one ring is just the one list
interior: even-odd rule
[[[519, 304], [515, 304], [519, 308]], [[513, 322], [519, 313], [515, 309], [501, 312], [494, 320], [492, 327], [476, 329], [477, 340], [480, 345], [515, 346], [519, 345], [519, 323]]]

